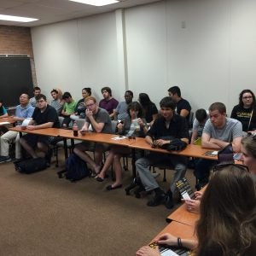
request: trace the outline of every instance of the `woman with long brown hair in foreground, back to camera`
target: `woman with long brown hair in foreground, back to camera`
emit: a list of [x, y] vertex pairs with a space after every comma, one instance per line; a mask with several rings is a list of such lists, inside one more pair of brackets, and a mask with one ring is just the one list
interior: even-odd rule
[[[161, 235], [159, 245], [183, 246], [195, 256], [254, 255], [256, 252], [256, 189], [246, 168], [218, 166], [201, 199], [197, 241], [172, 234]], [[142, 247], [137, 256], [160, 255], [158, 249]]]

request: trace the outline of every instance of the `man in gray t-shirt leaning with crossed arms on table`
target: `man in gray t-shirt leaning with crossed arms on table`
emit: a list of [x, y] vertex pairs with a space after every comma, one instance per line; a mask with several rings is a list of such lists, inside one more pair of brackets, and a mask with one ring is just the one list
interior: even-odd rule
[[[204, 127], [201, 137], [201, 147], [220, 150], [230, 143], [234, 152], [241, 150], [242, 126], [236, 119], [226, 117], [226, 107], [221, 102], [212, 103], [209, 108], [210, 119]], [[201, 189], [208, 182], [212, 166], [218, 164], [216, 160], [200, 159], [195, 164], [196, 188]]]

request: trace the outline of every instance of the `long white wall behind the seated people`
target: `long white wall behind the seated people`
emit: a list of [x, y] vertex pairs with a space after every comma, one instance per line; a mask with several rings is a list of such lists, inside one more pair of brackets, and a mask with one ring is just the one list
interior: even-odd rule
[[59, 86], [76, 99], [91, 86], [148, 92], [158, 104], [180, 86], [194, 111], [241, 90], [256, 93], [253, 0], [170, 0], [32, 28], [38, 85]]

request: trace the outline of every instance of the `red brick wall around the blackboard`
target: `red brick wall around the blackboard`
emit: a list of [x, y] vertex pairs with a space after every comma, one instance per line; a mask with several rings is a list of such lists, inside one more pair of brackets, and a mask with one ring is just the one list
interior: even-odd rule
[[30, 27], [0, 25], [0, 55], [30, 55], [32, 80], [37, 85]]

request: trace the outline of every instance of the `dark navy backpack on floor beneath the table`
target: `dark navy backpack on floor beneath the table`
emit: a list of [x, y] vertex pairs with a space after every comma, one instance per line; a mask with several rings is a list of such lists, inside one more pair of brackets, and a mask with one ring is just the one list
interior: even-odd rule
[[81, 160], [78, 155], [70, 154], [65, 163], [66, 178], [71, 182], [75, 182], [84, 177], [90, 176], [91, 172], [88, 169], [86, 162]]

